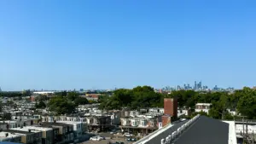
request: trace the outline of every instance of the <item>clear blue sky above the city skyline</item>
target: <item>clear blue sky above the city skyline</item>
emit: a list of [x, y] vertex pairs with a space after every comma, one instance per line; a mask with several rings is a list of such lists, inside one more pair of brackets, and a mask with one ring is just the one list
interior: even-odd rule
[[256, 85], [256, 1], [2, 0], [0, 87]]

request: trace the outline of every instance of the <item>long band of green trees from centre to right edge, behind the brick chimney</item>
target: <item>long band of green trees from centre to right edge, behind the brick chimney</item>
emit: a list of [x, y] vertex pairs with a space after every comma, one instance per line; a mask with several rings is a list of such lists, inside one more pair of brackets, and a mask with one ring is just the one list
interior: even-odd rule
[[117, 89], [113, 95], [102, 96], [100, 108], [121, 109], [129, 107], [163, 107], [165, 97], [177, 97], [178, 107], [195, 108], [196, 103], [212, 103], [209, 116], [212, 118], [233, 118], [227, 109], [236, 110], [247, 118], [256, 118], [256, 90], [244, 88], [229, 92], [196, 92], [194, 90], [172, 91], [170, 95], [155, 93], [148, 86], [138, 86], [134, 89]]

